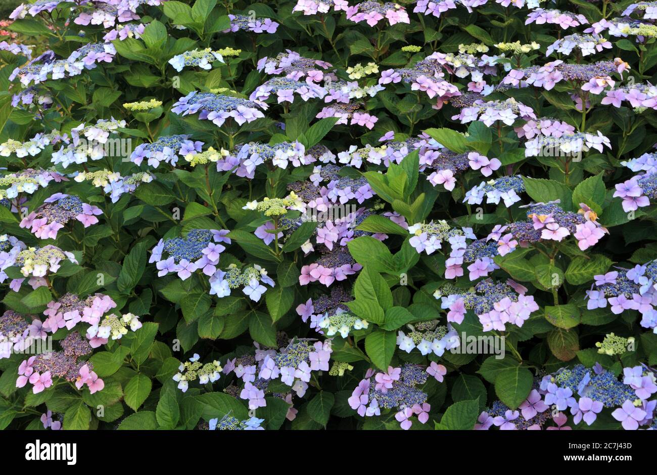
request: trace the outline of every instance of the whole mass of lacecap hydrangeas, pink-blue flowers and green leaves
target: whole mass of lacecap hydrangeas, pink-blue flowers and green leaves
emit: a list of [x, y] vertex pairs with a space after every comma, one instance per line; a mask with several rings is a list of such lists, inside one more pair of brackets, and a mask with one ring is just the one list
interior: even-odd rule
[[654, 428], [657, 3], [10, 4], [0, 428]]

